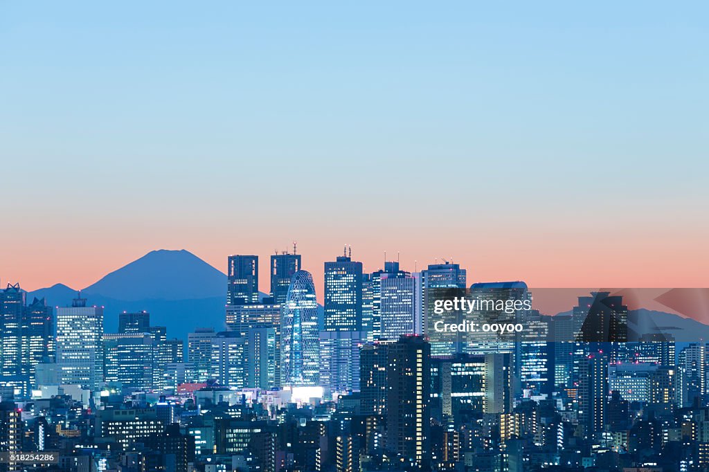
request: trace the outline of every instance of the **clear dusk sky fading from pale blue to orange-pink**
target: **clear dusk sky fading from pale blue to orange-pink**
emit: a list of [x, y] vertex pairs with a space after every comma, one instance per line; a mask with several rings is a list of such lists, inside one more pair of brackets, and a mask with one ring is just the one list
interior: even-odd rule
[[0, 283], [298, 241], [709, 286], [709, 4], [0, 1]]

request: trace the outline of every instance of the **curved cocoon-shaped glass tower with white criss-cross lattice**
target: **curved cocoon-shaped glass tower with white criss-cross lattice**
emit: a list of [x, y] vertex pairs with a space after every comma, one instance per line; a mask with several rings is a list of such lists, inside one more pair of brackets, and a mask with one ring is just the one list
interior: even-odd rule
[[281, 385], [317, 386], [318, 302], [308, 271], [293, 276], [281, 312]]

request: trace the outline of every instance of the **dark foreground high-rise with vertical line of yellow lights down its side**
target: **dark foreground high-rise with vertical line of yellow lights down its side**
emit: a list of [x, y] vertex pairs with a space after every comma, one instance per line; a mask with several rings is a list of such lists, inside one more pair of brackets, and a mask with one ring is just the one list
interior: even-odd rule
[[408, 335], [387, 351], [386, 449], [425, 469], [430, 463], [430, 344]]

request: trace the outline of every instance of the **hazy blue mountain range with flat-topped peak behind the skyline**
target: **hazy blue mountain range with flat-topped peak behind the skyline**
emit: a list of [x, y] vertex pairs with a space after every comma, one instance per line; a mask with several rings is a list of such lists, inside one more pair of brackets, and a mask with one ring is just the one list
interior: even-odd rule
[[[118, 330], [118, 313], [147, 310], [152, 325], [167, 327], [168, 337], [186, 339], [196, 327], [225, 329], [226, 282], [223, 272], [191, 252], [160, 249], [84, 288], [82, 297], [104, 306], [106, 332]], [[71, 305], [76, 296], [62, 283], [28, 293], [30, 300], [44, 297], [55, 306]], [[678, 342], [709, 340], [709, 326], [692, 318], [646, 309], [631, 310], [628, 318], [635, 332], [663, 332]]]

